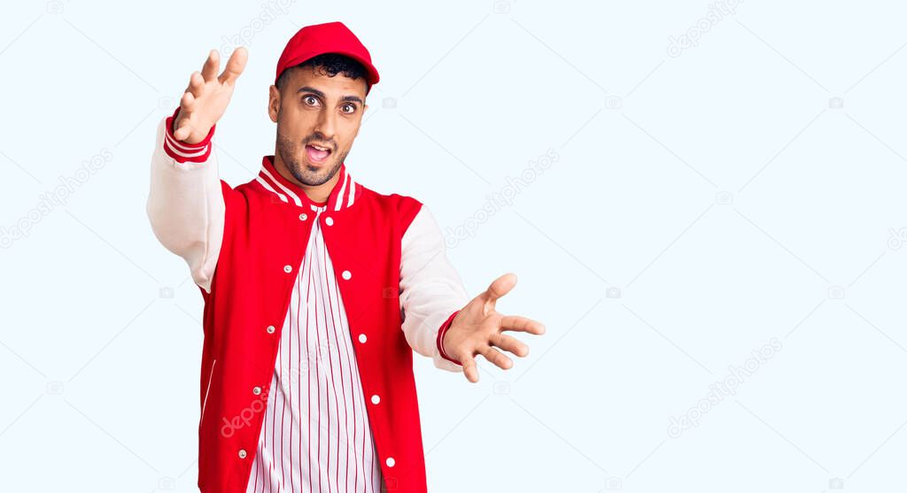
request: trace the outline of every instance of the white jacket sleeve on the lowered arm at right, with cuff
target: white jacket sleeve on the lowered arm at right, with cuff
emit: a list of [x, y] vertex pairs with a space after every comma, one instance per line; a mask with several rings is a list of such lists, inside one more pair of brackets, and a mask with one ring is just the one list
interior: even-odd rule
[[419, 208], [402, 240], [400, 310], [406, 342], [434, 366], [450, 372], [463, 367], [442, 356], [438, 330], [453, 312], [469, 303], [463, 281], [447, 259], [444, 236], [431, 211]]

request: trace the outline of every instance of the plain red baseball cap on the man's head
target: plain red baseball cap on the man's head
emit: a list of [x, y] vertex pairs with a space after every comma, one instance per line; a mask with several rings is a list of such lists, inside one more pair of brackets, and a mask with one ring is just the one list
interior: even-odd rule
[[278, 83], [280, 74], [288, 68], [307, 61], [309, 58], [323, 53], [338, 53], [346, 55], [366, 67], [368, 90], [378, 83], [378, 71], [372, 64], [372, 55], [366, 46], [359, 41], [346, 25], [341, 22], [307, 25], [293, 34], [280, 53], [278, 71], [274, 83]]

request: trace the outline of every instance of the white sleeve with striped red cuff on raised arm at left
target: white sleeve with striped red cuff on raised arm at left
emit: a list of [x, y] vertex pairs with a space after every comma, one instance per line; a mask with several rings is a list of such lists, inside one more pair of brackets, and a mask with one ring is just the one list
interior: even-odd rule
[[195, 284], [210, 293], [226, 212], [210, 141], [214, 129], [198, 144], [176, 140], [171, 120], [178, 113], [158, 125], [146, 211], [161, 245], [185, 259]]

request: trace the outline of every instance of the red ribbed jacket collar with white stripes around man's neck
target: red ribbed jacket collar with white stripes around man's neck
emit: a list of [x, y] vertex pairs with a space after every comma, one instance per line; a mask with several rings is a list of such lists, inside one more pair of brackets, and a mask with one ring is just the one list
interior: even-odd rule
[[346, 164], [341, 163], [340, 169], [337, 170], [339, 179], [331, 189], [327, 197], [327, 204], [319, 204], [308, 198], [306, 192], [292, 181], [285, 179], [274, 168], [274, 156], [265, 156], [261, 159], [261, 170], [258, 171], [256, 181], [268, 192], [276, 195], [281, 201], [288, 204], [294, 204], [300, 208], [311, 208], [312, 210], [341, 210], [350, 208], [356, 202], [356, 199], [362, 196], [362, 187], [353, 181]]

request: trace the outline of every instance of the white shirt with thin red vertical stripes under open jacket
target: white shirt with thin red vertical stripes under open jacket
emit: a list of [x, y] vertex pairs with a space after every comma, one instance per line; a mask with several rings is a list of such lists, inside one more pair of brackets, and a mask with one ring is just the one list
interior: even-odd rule
[[[337, 186], [354, 189], [344, 171]], [[267, 173], [258, 177], [267, 188], [299, 199]], [[354, 198], [349, 193], [345, 205]], [[309, 202], [316, 217], [327, 208]], [[346, 309], [321, 226], [313, 225], [281, 333], [249, 493], [383, 490]]]

